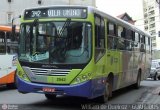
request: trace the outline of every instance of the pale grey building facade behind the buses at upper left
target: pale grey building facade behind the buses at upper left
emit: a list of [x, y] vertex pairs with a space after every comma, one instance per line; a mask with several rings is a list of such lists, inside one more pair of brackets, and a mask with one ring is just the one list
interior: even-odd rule
[[[1, 0], [0, 25], [11, 25], [12, 19], [21, 15], [25, 8], [49, 5], [85, 5], [94, 6], [95, 0]], [[15, 19], [14, 24], [19, 25]]]

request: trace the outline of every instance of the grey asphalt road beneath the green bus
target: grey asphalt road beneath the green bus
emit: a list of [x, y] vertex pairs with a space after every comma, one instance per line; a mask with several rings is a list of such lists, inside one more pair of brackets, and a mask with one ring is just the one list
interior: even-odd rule
[[[141, 82], [139, 89], [127, 87], [113, 93], [113, 97], [108, 104], [136, 104], [142, 100], [142, 97], [148, 91], [154, 90], [160, 86], [160, 81], [153, 81], [151, 79]], [[43, 94], [21, 94], [16, 89], [8, 89], [0, 87], [0, 110], [6, 105], [11, 110], [66, 110], [66, 109], [90, 109], [93, 105], [101, 105], [102, 109], [106, 109], [107, 104], [97, 104], [95, 100], [87, 100], [79, 97], [58, 96], [55, 100], [47, 100]], [[3, 106], [3, 107], [1, 107]], [[83, 108], [86, 107], [86, 108]], [[98, 106], [95, 106], [94, 109]], [[3, 110], [3, 109], [2, 109]]]

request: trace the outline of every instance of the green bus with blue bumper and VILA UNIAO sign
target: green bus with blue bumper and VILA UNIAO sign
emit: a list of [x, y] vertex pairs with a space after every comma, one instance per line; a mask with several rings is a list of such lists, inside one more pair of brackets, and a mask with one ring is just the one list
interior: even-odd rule
[[150, 35], [90, 6], [25, 9], [21, 17], [17, 88], [97, 98], [148, 77]]

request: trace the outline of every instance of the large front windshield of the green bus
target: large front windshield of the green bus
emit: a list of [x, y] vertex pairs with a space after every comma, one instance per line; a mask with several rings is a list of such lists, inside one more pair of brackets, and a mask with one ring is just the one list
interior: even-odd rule
[[91, 57], [91, 24], [71, 20], [21, 24], [19, 60], [81, 64]]

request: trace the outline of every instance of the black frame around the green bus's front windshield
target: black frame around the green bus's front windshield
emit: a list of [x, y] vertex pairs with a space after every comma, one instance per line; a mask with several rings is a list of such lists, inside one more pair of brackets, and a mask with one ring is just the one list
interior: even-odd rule
[[[41, 24], [42, 24], [42, 23], [49, 23], [49, 22], [64, 22], [64, 23], [65, 23], [66, 21], [65, 21], [65, 20], [52, 20], [52, 21], [39, 21], [39, 20], [38, 20], [38, 24], [39, 24], [39, 23], [41, 23]], [[79, 23], [82, 23], [82, 24], [83, 24], [83, 23], [86, 23], [86, 24], [89, 24], [89, 25], [90, 25], [90, 28], [89, 28], [89, 29], [90, 29], [90, 38], [88, 38], [88, 40], [91, 40], [91, 41], [88, 41], [88, 43], [90, 43], [90, 44], [89, 44], [89, 45], [90, 45], [90, 48], [88, 47], [89, 52], [90, 52], [90, 53], [89, 53], [90, 56], [89, 56], [88, 59], [86, 59], [87, 61], [86, 61], [85, 63], [78, 63], [78, 62], [77, 62], [77, 63], [57, 63], [57, 64], [58, 64], [58, 65], [59, 65], [59, 64], [61, 64], [61, 65], [63, 65], [63, 64], [65, 64], [65, 65], [66, 65], [66, 64], [67, 64], [67, 65], [68, 65], [68, 64], [70, 64], [70, 65], [85, 64], [85, 65], [86, 65], [86, 64], [88, 64], [88, 63], [91, 61], [92, 56], [93, 56], [93, 55], [92, 55], [92, 54], [93, 54], [93, 41], [92, 41], [92, 40], [93, 40], [93, 24], [92, 24], [91, 21], [82, 21], [82, 20], [71, 20], [70, 22], [79, 22]], [[22, 23], [21, 23], [21, 25], [20, 25], [20, 37], [23, 36], [23, 33], [21, 33], [21, 32], [22, 32], [22, 29], [21, 29], [21, 28], [22, 28], [22, 25], [24, 25], [24, 24], [27, 25], [27, 24], [28, 24], [28, 25], [31, 26], [32, 23], [33, 23], [33, 22], [22, 22]], [[33, 27], [34, 27], [34, 26], [32, 26], [32, 28], [33, 28]], [[27, 32], [27, 31], [26, 31], [26, 32]], [[84, 33], [86, 34], [86, 32], [84, 32]], [[88, 36], [88, 37], [89, 37], [89, 36]], [[23, 40], [24, 40], [24, 38], [25, 38], [25, 37], [23, 37]], [[20, 42], [21, 42], [21, 38], [20, 38]], [[19, 44], [21, 45], [21, 43], [19, 43]], [[20, 56], [20, 53], [21, 53], [21, 50], [20, 50], [20, 46], [19, 46], [19, 53], [18, 53], [19, 56]], [[46, 63], [43, 63], [43, 62], [38, 62], [38, 63], [37, 63], [37, 62], [30, 62], [30, 61], [27, 61], [27, 60], [25, 61], [25, 60], [20, 59], [19, 57], [18, 57], [18, 59], [19, 59], [19, 61], [22, 61], [22, 62], [28, 62], [28, 63], [34, 63], [34, 64], [46, 64]], [[49, 64], [49, 65], [55, 65], [55, 63], [50, 63], [50, 62], [48, 62], [47, 64]]]

